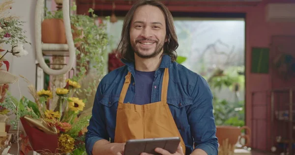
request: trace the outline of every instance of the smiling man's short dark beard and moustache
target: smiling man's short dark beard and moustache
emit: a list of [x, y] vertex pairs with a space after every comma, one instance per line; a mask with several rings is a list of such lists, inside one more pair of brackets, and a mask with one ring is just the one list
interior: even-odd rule
[[[153, 41], [155, 42], [154, 44], [156, 44], [156, 48], [154, 50], [154, 52], [152, 53], [144, 53], [144, 52], [140, 52], [140, 51], [148, 51], [150, 49], [142, 49], [142, 48], [139, 48], [139, 47], [136, 47], [136, 44], [141, 44], [140, 41]], [[135, 43], [131, 43], [131, 47], [132, 47], [132, 50], [134, 51], [134, 53], [141, 57], [141, 58], [152, 58], [152, 57], [155, 57], [157, 56], [158, 54], [160, 54], [164, 48], [164, 41], [162, 42], [159, 42], [157, 40], [149, 40], [149, 39], [136, 39], [135, 40]]]

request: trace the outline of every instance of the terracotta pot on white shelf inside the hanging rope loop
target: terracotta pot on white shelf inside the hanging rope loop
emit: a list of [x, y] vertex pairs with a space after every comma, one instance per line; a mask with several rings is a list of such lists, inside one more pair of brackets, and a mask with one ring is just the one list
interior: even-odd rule
[[47, 44], [66, 44], [65, 29], [61, 19], [45, 19], [41, 24], [41, 40]]

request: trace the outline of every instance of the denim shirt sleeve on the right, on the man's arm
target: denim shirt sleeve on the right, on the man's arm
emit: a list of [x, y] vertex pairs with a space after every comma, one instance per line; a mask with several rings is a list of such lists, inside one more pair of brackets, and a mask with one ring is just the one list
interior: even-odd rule
[[207, 81], [201, 76], [192, 89], [193, 104], [188, 108], [187, 116], [195, 149], [202, 149], [207, 155], [217, 155], [218, 140], [213, 115], [213, 95]]

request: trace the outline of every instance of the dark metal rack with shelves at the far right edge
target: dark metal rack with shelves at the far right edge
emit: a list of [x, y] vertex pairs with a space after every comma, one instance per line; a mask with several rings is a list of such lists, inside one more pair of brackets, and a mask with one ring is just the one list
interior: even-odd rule
[[273, 146], [280, 147], [289, 155], [295, 153], [295, 103], [293, 103], [295, 87], [271, 90], [270, 135]]

